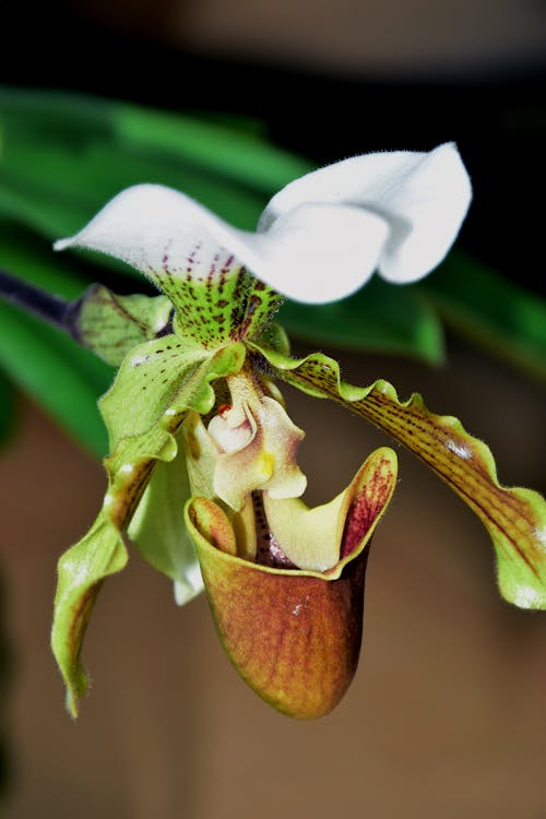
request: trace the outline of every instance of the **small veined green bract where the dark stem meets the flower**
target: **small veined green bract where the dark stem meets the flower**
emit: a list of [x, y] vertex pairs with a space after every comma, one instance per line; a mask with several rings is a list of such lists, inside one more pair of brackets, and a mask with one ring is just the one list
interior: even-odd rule
[[80, 344], [118, 366], [133, 347], [165, 330], [171, 311], [166, 296], [118, 296], [94, 284], [80, 299], [74, 331]]

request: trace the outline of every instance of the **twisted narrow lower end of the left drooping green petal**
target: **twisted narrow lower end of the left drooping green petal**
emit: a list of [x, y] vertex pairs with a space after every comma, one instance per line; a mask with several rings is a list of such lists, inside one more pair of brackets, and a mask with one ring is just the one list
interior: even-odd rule
[[126, 563], [123, 538], [104, 512], [59, 560], [51, 648], [67, 685], [67, 708], [73, 717], [78, 716], [78, 700], [87, 688], [80, 661], [87, 622], [103, 580]]

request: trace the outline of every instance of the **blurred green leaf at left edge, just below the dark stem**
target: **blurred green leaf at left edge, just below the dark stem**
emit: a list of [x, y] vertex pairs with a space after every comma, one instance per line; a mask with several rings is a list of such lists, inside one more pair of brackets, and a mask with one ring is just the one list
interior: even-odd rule
[[112, 371], [60, 331], [0, 301], [0, 367], [88, 451], [104, 455], [97, 397]]

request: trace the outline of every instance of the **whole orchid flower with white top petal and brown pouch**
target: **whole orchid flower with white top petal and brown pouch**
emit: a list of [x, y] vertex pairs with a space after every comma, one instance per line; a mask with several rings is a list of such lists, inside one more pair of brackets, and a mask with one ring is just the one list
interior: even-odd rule
[[179, 603], [204, 587], [244, 679], [280, 711], [328, 713], [356, 668], [369, 543], [396, 479], [395, 453], [371, 453], [330, 503], [309, 509], [297, 464], [304, 431], [275, 381], [331, 399], [425, 461], [476, 512], [509, 602], [546, 608], [545, 512], [501, 487], [492, 455], [460, 422], [401, 402], [383, 380], [352, 387], [335, 360], [289, 355], [273, 322], [284, 296], [343, 298], [375, 271], [416, 281], [443, 259], [471, 201], [453, 144], [358, 156], [308, 174], [265, 207], [256, 233], [177, 191], [141, 185], [56, 249], [88, 248], [147, 275], [161, 295], [93, 286], [82, 344], [118, 373], [99, 408], [108, 489], [90, 532], [60, 559], [52, 648], [76, 714], [80, 652], [103, 580], [126, 538], [175, 581]]

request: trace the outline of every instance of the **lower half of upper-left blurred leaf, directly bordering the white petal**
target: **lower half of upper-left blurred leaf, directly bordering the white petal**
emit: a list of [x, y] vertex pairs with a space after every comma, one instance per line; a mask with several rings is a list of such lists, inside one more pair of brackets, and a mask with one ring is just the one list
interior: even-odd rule
[[[0, 111], [1, 117], [1, 111]], [[183, 190], [239, 227], [253, 228], [264, 199], [180, 162], [90, 143], [78, 152], [7, 132], [0, 157], [0, 212], [50, 238], [85, 225], [116, 193], [139, 182]]]

